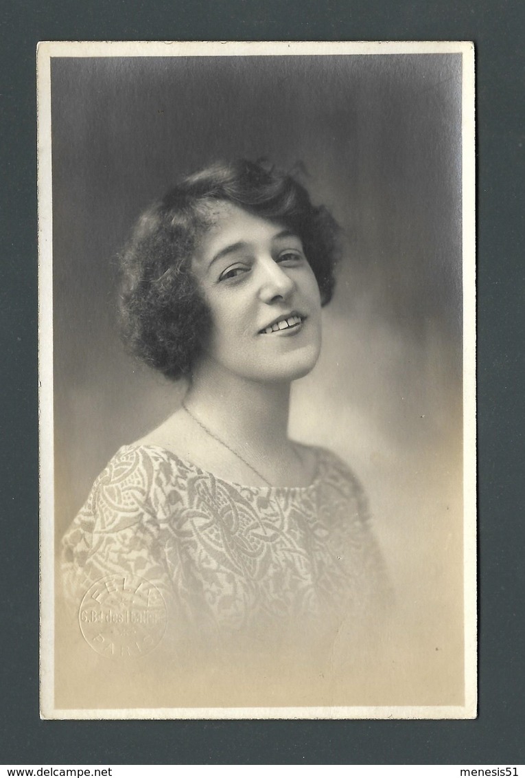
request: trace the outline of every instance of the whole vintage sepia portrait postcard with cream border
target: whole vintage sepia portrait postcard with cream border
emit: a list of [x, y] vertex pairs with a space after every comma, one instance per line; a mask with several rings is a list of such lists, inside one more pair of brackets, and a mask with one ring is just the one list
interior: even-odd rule
[[42, 717], [475, 717], [473, 45], [37, 70]]

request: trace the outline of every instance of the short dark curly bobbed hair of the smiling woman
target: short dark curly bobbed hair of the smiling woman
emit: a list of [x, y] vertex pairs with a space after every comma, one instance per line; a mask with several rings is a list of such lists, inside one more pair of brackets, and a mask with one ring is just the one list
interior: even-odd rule
[[231, 202], [301, 238], [322, 305], [334, 288], [339, 226], [290, 174], [239, 159], [183, 178], [146, 210], [120, 254], [120, 327], [127, 350], [166, 377], [191, 372], [211, 321], [191, 259], [210, 226], [210, 204]]

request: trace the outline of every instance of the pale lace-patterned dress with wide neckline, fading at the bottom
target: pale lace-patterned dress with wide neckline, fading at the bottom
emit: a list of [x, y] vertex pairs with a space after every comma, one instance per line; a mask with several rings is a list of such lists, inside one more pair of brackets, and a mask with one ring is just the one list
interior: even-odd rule
[[359, 482], [316, 448], [311, 485], [225, 482], [155, 446], [124, 446], [92, 487], [63, 540], [62, 580], [78, 611], [108, 575], [162, 592], [170, 643], [330, 640], [356, 633], [388, 589]]

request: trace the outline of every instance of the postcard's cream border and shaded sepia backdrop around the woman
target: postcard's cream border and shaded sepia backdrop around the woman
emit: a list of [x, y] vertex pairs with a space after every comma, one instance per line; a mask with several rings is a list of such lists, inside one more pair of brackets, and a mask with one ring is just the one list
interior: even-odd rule
[[[38, 156], [42, 716], [475, 717], [472, 44], [43, 43]], [[64, 605], [64, 532], [183, 392], [123, 352], [116, 258], [181, 175], [236, 157], [301, 166], [345, 236], [290, 436], [367, 494], [393, 597], [359, 655], [342, 622], [322, 659], [174, 659], [141, 576]]]

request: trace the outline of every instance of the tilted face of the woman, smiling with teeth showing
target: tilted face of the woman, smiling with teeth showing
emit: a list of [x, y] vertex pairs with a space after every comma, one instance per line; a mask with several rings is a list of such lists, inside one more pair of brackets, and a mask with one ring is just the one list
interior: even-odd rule
[[227, 202], [212, 217], [193, 257], [213, 323], [203, 359], [248, 380], [306, 375], [321, 348], [321, 300], [301, 240]]

